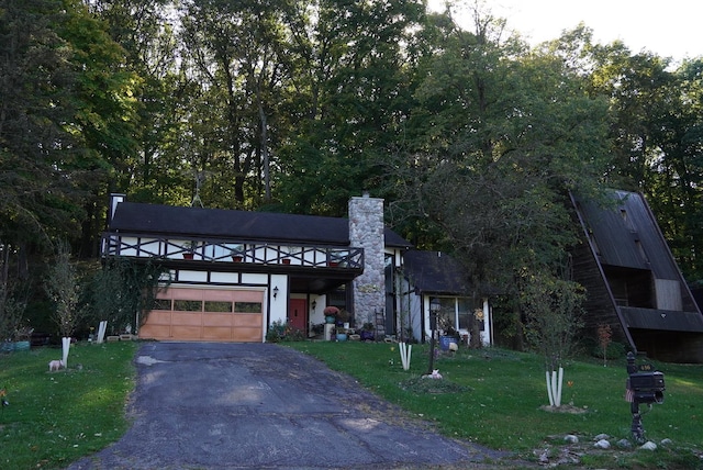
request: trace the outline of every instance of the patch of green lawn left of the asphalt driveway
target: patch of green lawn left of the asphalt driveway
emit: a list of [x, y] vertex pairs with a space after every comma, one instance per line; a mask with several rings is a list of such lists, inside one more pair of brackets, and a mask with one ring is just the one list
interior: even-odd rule
[[0, 468], [64, 468], [120, 438], [134, 388], [136, 343], [72, 345], [68, 369], [48, 372], [60, 348], [0, 355]]

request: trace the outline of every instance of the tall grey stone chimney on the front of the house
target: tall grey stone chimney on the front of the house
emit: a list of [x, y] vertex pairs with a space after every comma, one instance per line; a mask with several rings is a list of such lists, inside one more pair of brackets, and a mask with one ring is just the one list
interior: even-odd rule
[[[364, 273], [354, 280], [354, 314], [358, 326], [376, 325], [386, 311], [383, 200], [367, 193], [349, 201], [349, 242], [364, 248]], [[384, 332], [378, 332], [383, 334]]]

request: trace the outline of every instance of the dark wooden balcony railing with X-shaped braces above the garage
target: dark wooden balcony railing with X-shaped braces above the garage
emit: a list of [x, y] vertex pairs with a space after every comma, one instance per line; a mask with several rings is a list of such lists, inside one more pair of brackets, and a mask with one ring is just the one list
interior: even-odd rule
[[101, 255], [133, 258], [192, 259], [315, 268], [364, 268], [364, 248], [293, 246], [203, 238], [167, 238], [135, 234], [102, 235]]

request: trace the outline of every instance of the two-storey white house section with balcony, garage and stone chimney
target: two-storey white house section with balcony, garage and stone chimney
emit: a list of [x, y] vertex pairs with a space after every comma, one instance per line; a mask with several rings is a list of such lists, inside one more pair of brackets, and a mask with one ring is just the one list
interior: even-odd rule
[[[103, 257], [157, 260], [168, 287], [137, 321], [154, 339], [263, 342], [277, 321], [313, 333], [327, 305], [353, 325], [393, 334], [394, 276], [411, 247], [383, 225], [383, 201], [349, 201], [349, 217], [127, 202], [113, 194]], [[165, 282], [166, 282], [165, 277]]]

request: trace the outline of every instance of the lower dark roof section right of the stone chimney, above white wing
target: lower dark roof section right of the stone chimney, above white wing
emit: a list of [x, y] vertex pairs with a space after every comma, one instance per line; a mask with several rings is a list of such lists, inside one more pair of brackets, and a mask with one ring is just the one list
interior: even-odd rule
[[467, 292], [461, 265], [450, 256], [411, 249], [403, 258], [405, 277], [419, 293], [456, 295]]

